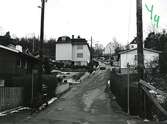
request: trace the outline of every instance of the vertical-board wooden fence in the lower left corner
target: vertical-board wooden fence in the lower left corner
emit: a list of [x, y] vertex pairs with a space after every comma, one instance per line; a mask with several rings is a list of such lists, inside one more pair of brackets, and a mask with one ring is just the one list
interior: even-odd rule
[[0, 87], [0, 111], [11, 109], [22, 105], [23, 88]]

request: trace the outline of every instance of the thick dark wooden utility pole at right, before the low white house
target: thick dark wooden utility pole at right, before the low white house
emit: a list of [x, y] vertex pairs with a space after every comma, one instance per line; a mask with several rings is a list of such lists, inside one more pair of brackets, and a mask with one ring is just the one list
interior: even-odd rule
[[[138, 60], [138, 78], [144, 78], [144, 56], [143, 56], [143, 20], [142, 20], [142, 0], [136, 0], [137, 8], [137, 60]], [[139, 97], [139, 115], [145, 116], [145, 97], [141, 87], [138, 84], [138, 97]]]

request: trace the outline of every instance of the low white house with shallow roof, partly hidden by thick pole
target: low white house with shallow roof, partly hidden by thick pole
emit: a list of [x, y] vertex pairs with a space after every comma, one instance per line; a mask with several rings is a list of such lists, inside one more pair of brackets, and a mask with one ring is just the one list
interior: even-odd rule
[[[156, 58], [159, 59], [160, 51], [144, 48], [143, 54], [144, 66], [147, 68], [147, 63]], [[137, 48], [120, 52], [120, 67], [127, 68], [127, 63], [133, 67], [137, 66]]]

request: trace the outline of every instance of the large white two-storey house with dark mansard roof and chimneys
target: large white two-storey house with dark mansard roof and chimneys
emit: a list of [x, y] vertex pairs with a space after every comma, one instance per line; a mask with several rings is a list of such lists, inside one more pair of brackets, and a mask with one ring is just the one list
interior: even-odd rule
[[56, 61], [87, 65], [90, 62], [90, 48], [85, 39], [59, 37], [56, 42]]

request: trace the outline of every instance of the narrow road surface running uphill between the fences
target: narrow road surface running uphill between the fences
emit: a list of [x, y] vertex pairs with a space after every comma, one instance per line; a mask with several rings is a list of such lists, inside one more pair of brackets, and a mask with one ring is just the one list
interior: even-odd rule
[[136, 124], [105, 93], [109, 70], [98, 70], [47, 109], [1, 124]]

